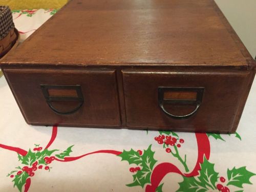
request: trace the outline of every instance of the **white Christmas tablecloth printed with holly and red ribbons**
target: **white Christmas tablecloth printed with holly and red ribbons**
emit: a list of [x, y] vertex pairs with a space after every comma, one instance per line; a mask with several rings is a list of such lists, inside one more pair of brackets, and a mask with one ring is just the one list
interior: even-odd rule
[[[13, 11], [21, 41], [56, 11]], [[255, 96], [231, 135], [32, 126], [2, 77], [0, 191], [256, 191]]]

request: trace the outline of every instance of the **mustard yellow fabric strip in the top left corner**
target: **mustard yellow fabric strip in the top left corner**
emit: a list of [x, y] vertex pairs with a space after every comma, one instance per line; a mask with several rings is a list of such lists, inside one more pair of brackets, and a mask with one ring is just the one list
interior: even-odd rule
[[68, 0], [0, 0], [0, 5], [8, 5], [12, 10], [19, 9], [59, 9]]

